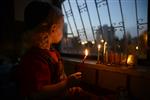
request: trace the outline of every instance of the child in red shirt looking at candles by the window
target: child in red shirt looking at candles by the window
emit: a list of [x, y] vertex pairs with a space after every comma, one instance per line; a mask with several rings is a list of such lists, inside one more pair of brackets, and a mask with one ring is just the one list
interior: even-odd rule
[[28, 50], [18, 69], [21, 96], [34, 100], [62, 98], [72, 81], [81, 78], [81, 72], [67, 77], [59, 53], [51, 49], [63, 37], [63, 14], [46, 2], [33, 1], [25, 8], [24, 21]]

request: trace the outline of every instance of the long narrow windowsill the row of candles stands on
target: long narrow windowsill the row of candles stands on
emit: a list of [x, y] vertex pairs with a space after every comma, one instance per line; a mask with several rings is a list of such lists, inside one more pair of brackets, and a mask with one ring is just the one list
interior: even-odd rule
[[[65, 62], [75, 63], [77, 66], [82, 64], [82, 59], [63, 57]], [[150, 68], [148, 66], [125, 66], [125, 65], [106, 65], [96, 64], [95, 60], [85, 60], [84, 65], [96, 70], [106, 70], [133, 76], [150, 78]]]

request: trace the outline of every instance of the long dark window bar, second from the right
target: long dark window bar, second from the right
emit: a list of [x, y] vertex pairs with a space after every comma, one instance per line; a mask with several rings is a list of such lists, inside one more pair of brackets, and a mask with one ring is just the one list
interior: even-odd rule
[[[119, 7], [120, 7], [120, 12], [121, 12], [123, 32], [124, 32], [124, 36], [125, 36], [125, 54], [127, 54], [127, 37], [126, 37], [126, 30], [125, 30], [125, 24], [124, 24], [122, 5], [121, 5], [121, 1], [120, 0], [119, 0]], [[126, 64], [127, 64], [127, 57], [126, 57]]]

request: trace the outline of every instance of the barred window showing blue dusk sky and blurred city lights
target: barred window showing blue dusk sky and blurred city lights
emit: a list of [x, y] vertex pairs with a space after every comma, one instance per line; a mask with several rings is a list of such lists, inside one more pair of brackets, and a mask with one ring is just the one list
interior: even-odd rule
[[128, 55], [147, 57], [148, 0], [65, 0], [61, 52], [83, 54], [88, 48], [101, 60], [124, 64]]

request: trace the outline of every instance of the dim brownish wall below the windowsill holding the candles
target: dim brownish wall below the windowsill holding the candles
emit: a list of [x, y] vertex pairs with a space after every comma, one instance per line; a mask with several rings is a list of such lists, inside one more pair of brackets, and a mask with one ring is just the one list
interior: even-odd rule
[[[117, 92], [124, 88], [134, 99], [150, 100], [150, 69], [127, 69], [65, 60], [66, 73], [82, 72], [82, 80], [93, 86]], [[101, 91], [101, 90], [100, 90]]]

